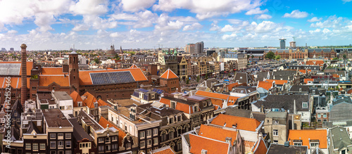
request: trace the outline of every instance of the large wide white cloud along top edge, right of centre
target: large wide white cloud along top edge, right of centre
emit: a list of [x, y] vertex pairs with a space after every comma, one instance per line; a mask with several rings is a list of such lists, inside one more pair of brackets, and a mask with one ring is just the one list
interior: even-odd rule
[[196, 13], [196, 18], [203, 20], [213, 16], [251, 10], [261, 5], [262, 2], [259, 0], [159, 0], [158, 4], [153, 6], [153, 10], [173, 11], [177, 8], [188, 9], [190, 12]]

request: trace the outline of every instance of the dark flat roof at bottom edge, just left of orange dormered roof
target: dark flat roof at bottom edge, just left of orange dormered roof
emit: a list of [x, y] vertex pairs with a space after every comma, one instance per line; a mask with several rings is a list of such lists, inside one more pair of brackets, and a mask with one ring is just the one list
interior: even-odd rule
[[284, 145], [279, 144], [270, 144], [267, 154], [278, 154], [278, 153], [285, 153], [285, 154], [296, 154], [296, 153], [307, 153], [308, 147], [307, 146], [288, 146], [285, 147]]

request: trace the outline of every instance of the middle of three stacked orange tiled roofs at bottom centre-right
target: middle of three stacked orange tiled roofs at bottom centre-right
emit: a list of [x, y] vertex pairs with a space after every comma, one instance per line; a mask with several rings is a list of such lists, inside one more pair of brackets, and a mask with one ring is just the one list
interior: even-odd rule
[[215, 139], [218, 141], [226, 141], [227, 137], [232, 138], [231, 145], [233, 146], [234, 141], [237, 139], [237, 131], [222, 129], [219, 127], [212, 127], [209, 125], [201, 124], [199, 129], [199, 136]]

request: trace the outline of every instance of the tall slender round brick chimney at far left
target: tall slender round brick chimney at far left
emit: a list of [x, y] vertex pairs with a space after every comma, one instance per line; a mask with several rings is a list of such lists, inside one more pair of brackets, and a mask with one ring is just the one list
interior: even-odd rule
[[27, 101], [27, 53], [26, 53], [27, 46], [25, 44], [21, 45], [21, 79], [22, 79], [22, 86], [21, 86], [21, 104], [25, 104]]

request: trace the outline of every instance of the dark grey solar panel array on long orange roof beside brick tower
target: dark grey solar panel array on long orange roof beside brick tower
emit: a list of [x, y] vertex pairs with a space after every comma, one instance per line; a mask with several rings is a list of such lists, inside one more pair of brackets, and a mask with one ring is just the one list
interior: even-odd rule
[[129, 71], [123, 72], [91, 72], [89, 73], [93, 84], [119, 84], [134, 82], [133, 76]]

